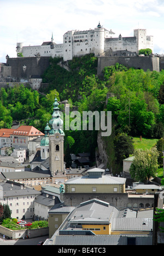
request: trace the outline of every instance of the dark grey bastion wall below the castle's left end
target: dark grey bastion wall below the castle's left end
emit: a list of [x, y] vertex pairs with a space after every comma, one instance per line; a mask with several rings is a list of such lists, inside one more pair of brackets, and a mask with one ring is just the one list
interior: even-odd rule
[[20, 82], [20, 79], [28, 80], [30, 75], [42, 75], [49, 66], [49, 60], [49, 57], [9, 58], [7, 66], [11, 67], [11, 76]]

